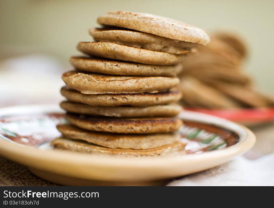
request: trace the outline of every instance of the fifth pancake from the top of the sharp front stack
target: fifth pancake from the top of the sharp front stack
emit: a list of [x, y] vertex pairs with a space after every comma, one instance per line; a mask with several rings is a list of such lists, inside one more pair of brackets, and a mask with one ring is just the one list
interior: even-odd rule
[[166, 92], [180, 80], [173, 77], [131, 77], [95, 73], [66, 72], [63, 81], [83, 94], [122, 94]]

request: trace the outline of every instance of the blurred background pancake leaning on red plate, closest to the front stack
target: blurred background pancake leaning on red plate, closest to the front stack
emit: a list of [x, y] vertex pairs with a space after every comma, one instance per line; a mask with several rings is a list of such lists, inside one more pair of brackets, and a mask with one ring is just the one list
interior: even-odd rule
[[240, 106], [238, 102], [214, 87], [208, 86], [191, 76], [183, 77], [179, 87], [184, 94], [183, 102], [192, 107], [237, 108]]

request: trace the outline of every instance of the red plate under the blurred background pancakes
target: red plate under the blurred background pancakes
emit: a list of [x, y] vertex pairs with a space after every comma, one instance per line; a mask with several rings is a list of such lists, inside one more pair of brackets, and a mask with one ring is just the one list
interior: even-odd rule
[[247, 126], [260, 125], [274, 121], [274, 108], [241, 108], [241, 109], [202, 109], [186, 108], [189, 111], [206, 113], [212, 116], [218, 116], [230, 121], [234, 121]]

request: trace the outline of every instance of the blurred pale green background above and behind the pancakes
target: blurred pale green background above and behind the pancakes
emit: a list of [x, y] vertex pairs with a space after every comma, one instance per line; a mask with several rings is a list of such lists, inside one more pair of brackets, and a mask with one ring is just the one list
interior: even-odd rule
[[88, 28], [107, 11], [147, 12], [171, 17], [206, 31], [239, 34], [248, 44], [246, 70], [259, 89], [274, 94], [274, 1], [106, 1], [1, 0], [0, 59], [28, 53], [53, 56], [69, 67], [76, 44], [89, 41]]

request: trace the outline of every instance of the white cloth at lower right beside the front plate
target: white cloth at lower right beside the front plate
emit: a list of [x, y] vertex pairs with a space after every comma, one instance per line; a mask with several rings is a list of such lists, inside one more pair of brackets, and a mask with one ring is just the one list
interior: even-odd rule
[[274, 186], [274, 154], [223, 165], [174, 180], [168, 186]]

